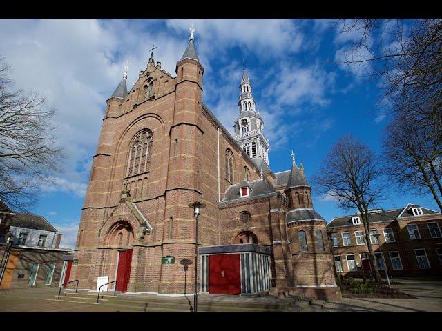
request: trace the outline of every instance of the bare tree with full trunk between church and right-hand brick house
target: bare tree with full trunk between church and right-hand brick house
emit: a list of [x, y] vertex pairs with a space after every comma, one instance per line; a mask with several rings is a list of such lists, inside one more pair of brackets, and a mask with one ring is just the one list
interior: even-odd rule
[[376, 281], [381, 281], [378, 266], [369, 240], [369, 209], [382, 197], [381, 165], [376, 154], [351, 134], [340, 137], [323, 159], [313, 177], [316, 190], [337, 199], [344, 210], [357, 209], [365, 229], [365, 242]]

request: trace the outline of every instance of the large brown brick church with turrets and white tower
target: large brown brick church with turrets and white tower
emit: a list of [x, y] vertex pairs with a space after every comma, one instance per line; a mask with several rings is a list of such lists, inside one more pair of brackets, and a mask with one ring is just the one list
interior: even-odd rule
[[176, 77], [151, 53], [131, 90], [126, 67], [107, 100], [70, 279], [90, 290], [107, 277], [122, 292], [192, 293], [194, 265], [180, 261], [195, 263], [189, 205], [201, 201], [198, 292], [340, 296], [302, 164], [292, 153], [289, 170], [272, 172], [245, 69], [235, 136], [216, 119], [202, 101], [193, 31]]

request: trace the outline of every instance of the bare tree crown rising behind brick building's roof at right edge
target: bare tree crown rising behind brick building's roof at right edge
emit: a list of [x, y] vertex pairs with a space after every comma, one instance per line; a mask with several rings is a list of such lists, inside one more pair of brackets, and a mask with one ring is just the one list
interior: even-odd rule
[[430, 192], [442, 212], [442, 150], [432, 131], [406, 114], [384, 131], [384, 167], [390, 181], [402, 192]]

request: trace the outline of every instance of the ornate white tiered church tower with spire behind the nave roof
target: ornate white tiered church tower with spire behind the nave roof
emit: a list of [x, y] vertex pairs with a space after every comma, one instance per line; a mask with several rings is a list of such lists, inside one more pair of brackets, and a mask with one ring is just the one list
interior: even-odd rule
[[251, 83], [247, 76], [246, 69], [242, 71], [240, 83], [240, 100], [238, 115], [233, 128], [235, 129], [235, 140], [238, 141], [244, 152], [261, 168], [262, 161], [269, 166], [269, 142], [265, 139], [264, 121], [259, 112], [256, 112], [256, 101], [251, 94]]

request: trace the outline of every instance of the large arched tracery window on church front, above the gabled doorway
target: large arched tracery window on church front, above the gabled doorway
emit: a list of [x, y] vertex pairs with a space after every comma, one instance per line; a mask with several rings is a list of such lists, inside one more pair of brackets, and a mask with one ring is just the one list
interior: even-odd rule
[[128, 176], [141, 174], [149, 170], [151, 165], [152, 141], [151, 130], [144, 130], [135, 136], [129, 155]]

